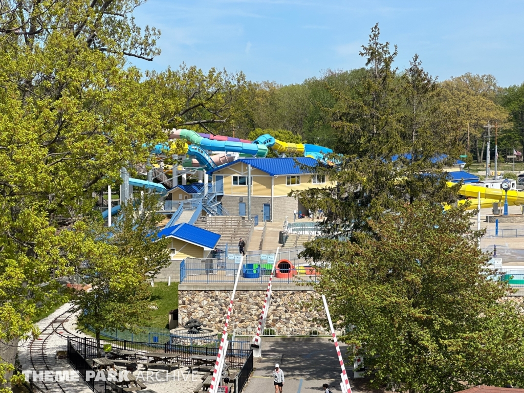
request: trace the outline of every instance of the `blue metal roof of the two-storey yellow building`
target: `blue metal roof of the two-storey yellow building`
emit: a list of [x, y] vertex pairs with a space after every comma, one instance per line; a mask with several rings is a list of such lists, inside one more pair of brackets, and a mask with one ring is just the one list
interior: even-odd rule
[[208, 173], [213, 173], [217, 170], [230, 167], [241, 161], [245, 164], [251, 165], [253, 168], [266, 172], [271, 176], [275, 176], [277, 174], [310, 173], [309, 171], [301, 170], [295, 160], [297, 160], [300, 165], [307, 165], [310, 167], [314, 167], [318, 164], [318, 161], [311, 157], [241, 158], [239, 160], [228, 162], [225, 165], [222, 165], [216, 169], [209, 171]]

